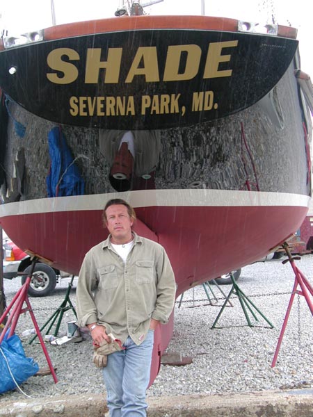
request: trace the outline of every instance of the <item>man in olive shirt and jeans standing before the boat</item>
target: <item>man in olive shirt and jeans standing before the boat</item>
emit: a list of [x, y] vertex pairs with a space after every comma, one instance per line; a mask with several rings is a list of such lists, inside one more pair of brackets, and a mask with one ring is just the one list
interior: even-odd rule
[[127, 202], [107, 202], [103, 220], [109, 237], [86, 254], [79, 273], [79, 325], [97, 345], [110, 343], [109, 334], [122, 343], [103, 368], [110, 417], [146, 416], [153, 332], [170, 318], [175, 277], [163, 247], [131, 231], [136, 214]]

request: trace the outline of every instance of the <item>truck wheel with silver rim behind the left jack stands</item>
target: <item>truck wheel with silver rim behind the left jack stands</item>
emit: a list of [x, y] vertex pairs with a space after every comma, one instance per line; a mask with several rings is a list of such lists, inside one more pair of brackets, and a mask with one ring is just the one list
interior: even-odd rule
[[[31, 265], [29, 265], [24, 272], [31, 272]], [[22, 284], [26, 281], [26, 276], [22, 277]], [[31, 284], [29, 284], [29, 295], [31, 297], [45, 297], [54, 291], [56, 288], [56, 272], [51, 266], [45, 263], [36, 263], [33, 270], [33, 277], [31, 277]]]

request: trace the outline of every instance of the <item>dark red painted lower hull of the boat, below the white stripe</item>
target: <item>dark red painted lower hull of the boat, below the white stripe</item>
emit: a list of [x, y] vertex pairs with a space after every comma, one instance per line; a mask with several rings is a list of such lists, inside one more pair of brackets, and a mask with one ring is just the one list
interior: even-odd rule
[[[262, 258], [296, 232], [306, 212], [299, 206], [145, 207], [136, 208], [134, 230], [166, 248], [179, 294]], [[107, 236], [101, 215], [98, 210], [8, 215], [1, 224], [22, 250], [78, 275], [83, 256]]]

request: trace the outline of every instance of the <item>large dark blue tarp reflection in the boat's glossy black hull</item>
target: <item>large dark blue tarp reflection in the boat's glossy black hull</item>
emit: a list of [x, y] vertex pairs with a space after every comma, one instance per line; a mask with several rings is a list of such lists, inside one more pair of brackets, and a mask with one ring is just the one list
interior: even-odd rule
[[74, 163], [61, 128], [56, 126], [48, 134], [51, 167], [47, 176], [48, 197], [82, 195], [85, 183]]

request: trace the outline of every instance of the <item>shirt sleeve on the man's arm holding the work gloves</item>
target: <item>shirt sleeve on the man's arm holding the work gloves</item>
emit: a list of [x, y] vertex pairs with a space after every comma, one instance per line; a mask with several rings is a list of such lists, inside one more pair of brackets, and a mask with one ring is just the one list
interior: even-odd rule
[[97, 269], [88, 252], [83, 259], [76, 291], [77, 324], [80, 327], [97, 322], [93, 291], [97, 288]]

